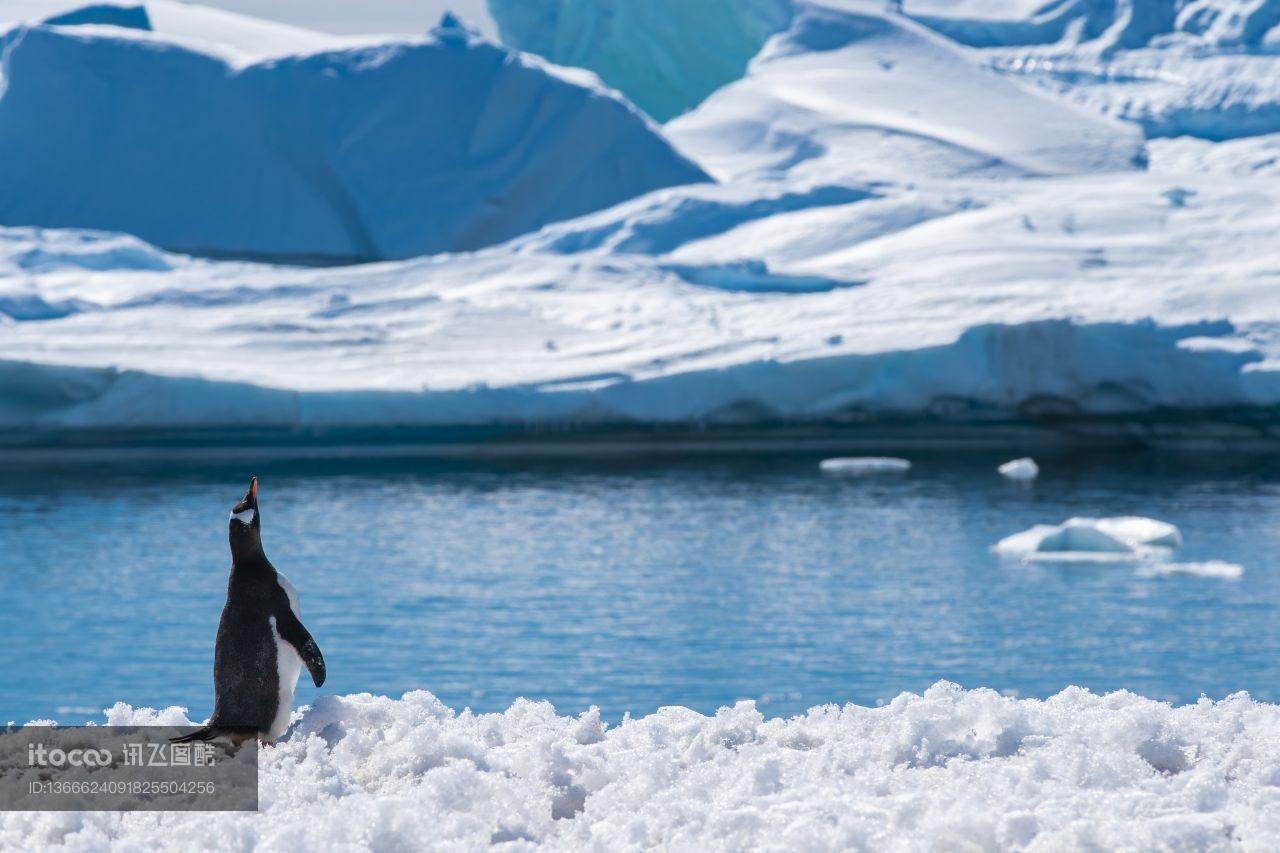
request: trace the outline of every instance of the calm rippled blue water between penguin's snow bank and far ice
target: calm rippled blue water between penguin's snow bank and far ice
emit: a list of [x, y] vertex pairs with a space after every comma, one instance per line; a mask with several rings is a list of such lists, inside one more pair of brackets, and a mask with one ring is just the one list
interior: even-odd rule
[[[611, 719], [756, 698], [869, 704], [938, 679], [1280, 699], [1280, 470], [1254, 460], [818, 457], [644, 464], [146, 466], [0, 474], [0, 721], [116, 701], [212, 706], [228, 508], [262, 476], [268, 555], [302, 596], [325, 693], [518, 695]], [[1147, 514], [1239, 580], [1024, 566], [1034, 523]], [[300, 686], [300, 702], [315, 695]]]

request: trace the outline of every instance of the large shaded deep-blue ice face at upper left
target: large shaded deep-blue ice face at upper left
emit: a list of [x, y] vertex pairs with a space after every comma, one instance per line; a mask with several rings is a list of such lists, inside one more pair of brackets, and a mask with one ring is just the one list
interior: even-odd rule
[[104, 26], [10, 32], [0, 223], [376, 260], [472, 250], [705, 178], [589, 74], [453, 19], [422, 40], [248, 64], [211, 45]]

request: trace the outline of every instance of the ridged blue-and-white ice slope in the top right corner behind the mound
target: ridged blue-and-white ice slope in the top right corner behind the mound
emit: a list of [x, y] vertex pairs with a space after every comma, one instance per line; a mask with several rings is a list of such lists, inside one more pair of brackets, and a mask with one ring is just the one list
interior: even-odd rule
[[983, 49], [993, 68], [1135, 122], [1151, 137], [1280, 131], [1276, 0], [919, 0], [909, 14]]

